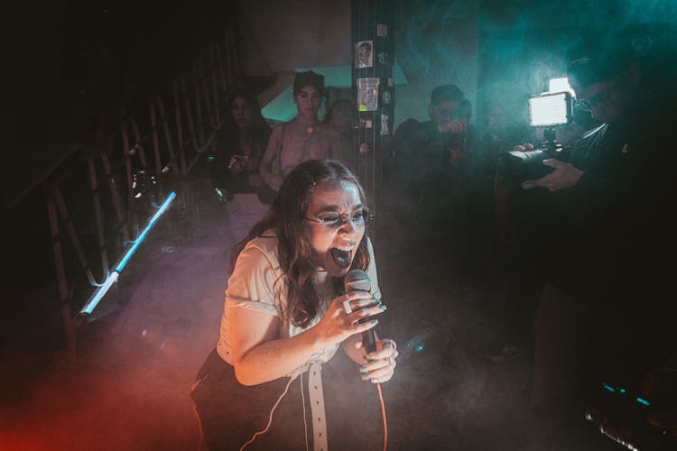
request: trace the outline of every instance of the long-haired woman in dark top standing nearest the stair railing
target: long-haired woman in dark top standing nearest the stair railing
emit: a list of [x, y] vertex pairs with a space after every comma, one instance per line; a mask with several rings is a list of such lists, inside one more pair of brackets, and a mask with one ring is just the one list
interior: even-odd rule
[[253, 93], [238, 89], [230, 97], [230, 115], [217, 134], [217, 153], [212, 162], [212, 184], [226, 201], [235, 243], [267, 211], [274, 193], [258, 172], [270, 136]]

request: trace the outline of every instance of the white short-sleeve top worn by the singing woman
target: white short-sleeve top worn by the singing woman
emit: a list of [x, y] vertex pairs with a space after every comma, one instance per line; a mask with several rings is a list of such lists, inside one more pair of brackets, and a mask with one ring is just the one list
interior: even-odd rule
[[[371, 293], [376, 299], [381, 299], [381, 291], [378, 288], [376, 276], [376, 262], [374, 251], [368, 238], [367, 248], [369, 251], [369, 268], [367, 274], [371, 279]], [[230, 308], [252, 308], [257, 311], [268, 313], [277, 317], [280, 321], [278, 338], [297, 336], [304, 330], [315, 326], [329, 307], [331, 300], [338, 294], [334, 290], [332, 278], [327, 272], [317, 271], [311, 276], [311, 281], [320, 299], [318, 315], [312, 319], [307, 327], [297, 327], [291, 321], [283, 319], [283, 311], [287, 302], [287, 287], [277, 253], [277, 236], [273, 231], [268, 231], [246, 244], [245, 248], [237, 257], [235, 271], [228, 279], [226, 289], [226, 302], [221, 318], [220, 337], [218, 339], [217, 352], [228, 364], [233, 364], [231, 357], [231, 341], [229, 332]], [[306, 364], [301, 365], [286, 376], [293, 377], [296, 374], [307, 371], [311, 364], [324, 364], [336, 353], [338, 345], [331, 345], [313, 354]]]

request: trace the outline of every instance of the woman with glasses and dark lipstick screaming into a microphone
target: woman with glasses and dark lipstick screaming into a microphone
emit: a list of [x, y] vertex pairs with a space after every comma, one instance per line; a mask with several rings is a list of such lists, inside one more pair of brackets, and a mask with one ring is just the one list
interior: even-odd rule
[[[351, 396], [366, 404], [357, 393], [393, 377], [394, 341], [377, 339], [371, 353], [361, 343], [385, 310], [366, 215], [364, 190], [347, 166], [306, 161], [238, 245], [218, 345], [190, 393], [209, 449], [342, 448], [338, 431], [357, 412], [336, 404], [345, 409]], [[367, 272], [370, 291], [344, 293], [351, 269]], [[338, 347], [354, 364], [334, 378]], [[332, 394], [338, 380], [355, 390]], [[370, 420], [380, 425], [377, 415]]]

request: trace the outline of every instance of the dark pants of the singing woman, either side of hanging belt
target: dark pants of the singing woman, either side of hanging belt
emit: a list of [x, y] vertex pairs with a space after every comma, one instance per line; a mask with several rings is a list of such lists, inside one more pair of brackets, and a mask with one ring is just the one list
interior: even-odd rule
[[[308, 374], [301, 375], [305, 391], [308, 446], [312, 449]], [[274, 403], [289, 382], [280, 378], [255, 386], [237, 382], [235, 370], [212, 351], [199, 369], [190, 391], [199, 415], [204, 446], [238, 450], [268, 423]], [[341, 350], [322, 365], [329, 449], [377, 449], [383, 440], [376, 386], [360, 380], [357, 365]], [[271, 428], [246, 446], [250, 450], [305, 449], [301, 382], [294, 380], [274, 411]]]

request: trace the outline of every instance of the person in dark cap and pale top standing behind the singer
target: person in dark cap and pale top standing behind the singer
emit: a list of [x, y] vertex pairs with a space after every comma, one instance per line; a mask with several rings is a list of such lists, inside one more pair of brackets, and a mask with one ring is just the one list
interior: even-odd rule
[[303, 161], [345, 160], [337, 133], [318, 118], [324, 95], [324, 76], [312, 70], [296, 74], [293, 101], [298, 114], [292, 121], [274, 127], [259, 165], [264, 182], [275, 191], [280, 189], [284, 176]]

